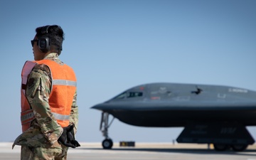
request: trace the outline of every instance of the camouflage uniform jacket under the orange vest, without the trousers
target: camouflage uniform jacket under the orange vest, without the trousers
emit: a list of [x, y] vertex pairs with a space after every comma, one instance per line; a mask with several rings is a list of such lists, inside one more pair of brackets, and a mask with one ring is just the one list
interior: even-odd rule
[[[58, 53], [50, 53], [44, 59], [55, 60], [55, 62], [63, 64], [58, 58]], [[43, 64], [35, 65], [28, 77], [26, 98], [33, 109], [36, 119], [33, 120], [28, 130], [16, 138], [13, 147], [21, 145], [50, 148], [53, 144], [58, 144], [57, 141], [63, 132], [63, 128], [50, 112], [48, 99], [51, 91], [51, 82], [52, 78], [48, 66]], [[77, 92], [73, 96], [70, 124], [75, 126], [74, 132], [76, 133], [78, 127]]]

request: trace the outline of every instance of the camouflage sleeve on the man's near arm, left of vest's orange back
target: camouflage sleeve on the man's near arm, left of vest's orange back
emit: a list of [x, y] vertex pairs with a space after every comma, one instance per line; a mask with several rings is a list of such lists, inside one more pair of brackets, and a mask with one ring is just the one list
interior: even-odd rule
[[36, 65], [28, 78], [26, 97], [35, 114], [37, 124], [42, 134], [50, 144], [57, 142], [63, 128], [57, 123], [50, 112], [48, 103], [51, 89], [50, 69], [46, 65]]

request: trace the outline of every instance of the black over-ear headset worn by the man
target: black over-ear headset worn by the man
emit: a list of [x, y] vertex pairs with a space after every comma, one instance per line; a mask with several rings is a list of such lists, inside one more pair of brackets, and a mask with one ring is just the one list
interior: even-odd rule
[[[41, 33], [47, 34], [49, 27], [50, 26], [44, 26]], [[50, 38], [48, 38], [47, 36], [41, 36], [40, 38], [38, 38], [38, 48], [41, 52], [47, 53], [50, 50]]]

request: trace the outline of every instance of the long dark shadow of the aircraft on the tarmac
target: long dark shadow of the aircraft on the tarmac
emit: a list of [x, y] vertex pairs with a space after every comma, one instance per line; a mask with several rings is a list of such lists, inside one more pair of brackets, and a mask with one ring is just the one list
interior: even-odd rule
[[[86, 148], [92, 150], [102, 150], [100, 148]], [[245, 151], [215, 151], [214, 149], [147, 149], [147, 148], [112, 148], [103, 149], [105, 151], [151, 151], [151, 152], [165, 152], [165, 153], [184, 153], [184, 154], [230, 154], [241, 156], [256, 156], [256, 149], [247, 149]]]

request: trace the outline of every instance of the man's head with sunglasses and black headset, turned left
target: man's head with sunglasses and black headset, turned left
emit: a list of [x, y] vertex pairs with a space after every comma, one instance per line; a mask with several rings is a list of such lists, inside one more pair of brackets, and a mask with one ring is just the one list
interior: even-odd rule
[[35, 60], [41, 60], [53, 52], [60, 55], [63, 40], [64, 33], [60, 26], [53, 25], [36, 28], [36, 36], [31, 41]]

